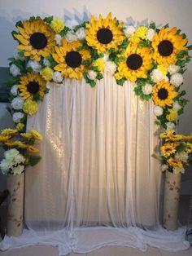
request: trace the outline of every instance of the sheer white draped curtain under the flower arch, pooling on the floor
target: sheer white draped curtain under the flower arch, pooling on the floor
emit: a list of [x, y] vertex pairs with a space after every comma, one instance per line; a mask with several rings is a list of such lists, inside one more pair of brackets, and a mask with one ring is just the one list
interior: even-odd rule
[[69, 79], [48, 86], [38, 113], [28, 118], [28, 130], [44, 136], [41, 162], [25, 175], [29, 231], [6, 237], [2, 247], [59, 245], [59, 255], [103, 245], [186, 249], [183, 229], [159, 226], [152, 103], [107, 74], [94, 88]]

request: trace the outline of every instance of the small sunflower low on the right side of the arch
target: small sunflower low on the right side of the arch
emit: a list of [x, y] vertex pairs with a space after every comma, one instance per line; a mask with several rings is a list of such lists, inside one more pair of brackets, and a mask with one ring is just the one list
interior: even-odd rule
[[166, 105], [171, 107], [174, 102], [173, 99], [177, 97], [177, 95], [178, 93], [175, 91], [175, 86], [162, 80], [153, 87], [152, 99], [154, 104], [159, 107], [164, 108]]

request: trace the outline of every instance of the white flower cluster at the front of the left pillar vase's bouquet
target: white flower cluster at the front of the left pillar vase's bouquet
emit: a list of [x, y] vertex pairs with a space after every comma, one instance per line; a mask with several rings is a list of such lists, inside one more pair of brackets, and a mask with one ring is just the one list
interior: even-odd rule
[[25, 158], [20, 152], [12, 148], [4, 152], [4, 159], [0, 163], [2, 174], [21, 174], [24, 171]]

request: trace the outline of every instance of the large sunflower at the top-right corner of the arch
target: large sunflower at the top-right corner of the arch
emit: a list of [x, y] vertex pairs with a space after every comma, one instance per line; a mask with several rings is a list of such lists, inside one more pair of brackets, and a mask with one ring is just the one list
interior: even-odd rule
[[177, 54], [186, 50], [187, 39], [183, 39], [182, 35], [177, 34], [177, 28], [160, 29], [159, 33], [155, 33], [151, 46], [154, 49], [153, 58], [158, 64], [168, 66], [177, 62]]

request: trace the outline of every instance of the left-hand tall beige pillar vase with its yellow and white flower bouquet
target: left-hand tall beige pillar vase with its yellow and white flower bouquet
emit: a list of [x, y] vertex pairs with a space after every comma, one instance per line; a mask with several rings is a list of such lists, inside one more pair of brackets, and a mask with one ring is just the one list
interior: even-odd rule
[[[23, 127], [24, 128], [24, 127]], [[34, 155], [39, 150], [33, 145], [41, 140], [36, 130], [22, 133], [16, 129], [5, 129], [0, 132], [0, 143], [6, 150], [0, 163], [2, 174], [7, 175], [7, 235], [20, 236], [23, 231], [24, 209], [24, 170], [34, 166], [41, 157]]]

